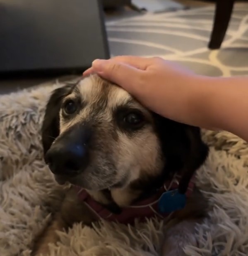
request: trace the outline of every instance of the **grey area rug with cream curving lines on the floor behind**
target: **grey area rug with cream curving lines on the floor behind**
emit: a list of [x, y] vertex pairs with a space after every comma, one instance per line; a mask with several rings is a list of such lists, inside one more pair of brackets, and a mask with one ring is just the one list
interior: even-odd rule
[[248, 74], [248, 4], [236, 4], [221, 50], [207, 48], [214, 7], [108, 22], [111, 54], [160, 56], [199, 74]]

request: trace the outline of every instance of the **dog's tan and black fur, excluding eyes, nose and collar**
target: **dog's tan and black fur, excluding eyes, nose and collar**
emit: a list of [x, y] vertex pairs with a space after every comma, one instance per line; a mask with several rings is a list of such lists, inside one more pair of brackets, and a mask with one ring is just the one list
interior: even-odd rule
[[[77, 112], [69, 117], [63, 112], [68, 99], [76, 101], [78, 106]], [[142, 114], [144, 124], [140, 128], [132, 130], [123, 124], [123, 113], [129, 110]], [[68, 138], [75, 134], [81, 136], [82, 130], [84, 138], [91, 130], [87, 140], [89, 162], [76, 179], [60, 175], [58, 170], [55, 176], [57, 180], [69, 180], [84, 187], [97, 202], [117, 214], [122, 207], [152, 194], [175, 172], [182, 176], [178, 190], [184, 193], [208, 153], [199, 128], [148, 111], [126, 91], [96, 75], [57, 89], [51, 96], [42, 128], [47, 162], [49, 150], [58, 144], [66, 146], [65, 139], [70, 143]], [[165, 231], [162, 255], [183, 256], [183, 247], [196, 243], [195, 224], [206, 212], [207, 204], [195, 190], [186, 207], [173, 213]], [[34, 255], [48, 252], [48, 243], [58, 239], [56, 230], [66, 230], [75, 222], [90, 225], [94, 221], [94, 214], [78, 201], [75, 190], [70, 189], [60, 212], [37, 239]]]

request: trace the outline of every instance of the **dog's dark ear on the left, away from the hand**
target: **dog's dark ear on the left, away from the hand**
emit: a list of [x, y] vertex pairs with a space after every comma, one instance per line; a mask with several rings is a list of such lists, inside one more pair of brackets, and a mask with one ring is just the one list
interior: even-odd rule
[[45, 116], [41, 128], [41, 137], [44, 155], [59, 135], [59, 112], [62, 99], [70, 94], [75, 84], [55, 89], [46, 105]]

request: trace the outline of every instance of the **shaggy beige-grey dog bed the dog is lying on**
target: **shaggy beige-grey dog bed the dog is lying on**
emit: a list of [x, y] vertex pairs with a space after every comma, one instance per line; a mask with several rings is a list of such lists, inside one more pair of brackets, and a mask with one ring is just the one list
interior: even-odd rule
[[[40, 128], [51, 91], [47, 84], [0, 96], [0, 256], [29, 256], [34, 238], [59, 209], [63, 190], [43, 162]], [[204, 132], [209, 159], [198, 185], [213, 210], [197, 228], [190, 256], [248, 255], [248, 148], [226, 132]], [[75, 224], [51, 245], [51, 256], [155, 256], [163, 223], [147, 220], [135, 227], [103, 222], [94, 228]]]

